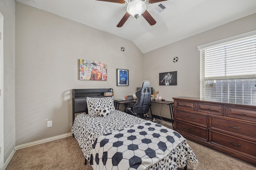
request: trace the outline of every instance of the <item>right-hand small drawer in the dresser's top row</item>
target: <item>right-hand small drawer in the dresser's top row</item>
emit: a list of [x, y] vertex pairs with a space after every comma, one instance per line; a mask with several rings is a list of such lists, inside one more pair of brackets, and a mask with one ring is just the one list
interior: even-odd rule
[[230, 117], [256, 120], [256, 109], [226, 106], [226, 111], [226, 115]]

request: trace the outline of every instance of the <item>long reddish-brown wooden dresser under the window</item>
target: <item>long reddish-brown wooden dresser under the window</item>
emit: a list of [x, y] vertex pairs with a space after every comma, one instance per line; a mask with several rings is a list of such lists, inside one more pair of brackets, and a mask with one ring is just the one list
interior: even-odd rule
[[174, 130], [187, 139], [256, 164], [256, 104], [174, 99]]

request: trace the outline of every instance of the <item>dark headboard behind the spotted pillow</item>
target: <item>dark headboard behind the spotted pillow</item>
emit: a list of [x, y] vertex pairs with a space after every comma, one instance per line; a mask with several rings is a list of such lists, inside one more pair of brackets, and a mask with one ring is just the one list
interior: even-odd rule
[[73, 89], [73, 123], [75, 120], [76, 113], [82, 113], [82, 112], [88, 113], [86, 97], [96, 97], [96, 96], [104, 97], [104, 92], [113, 93], [113, 89], [112, 88]]

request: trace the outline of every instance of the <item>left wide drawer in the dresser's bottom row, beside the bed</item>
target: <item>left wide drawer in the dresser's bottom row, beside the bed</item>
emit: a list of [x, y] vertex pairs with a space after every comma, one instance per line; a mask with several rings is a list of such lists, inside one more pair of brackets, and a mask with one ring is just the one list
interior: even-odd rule
[[176, 121], [176, 124], [177, 124], [177, 130], [183, 131], [190, 135], [195, 135], [196, 137], [199, 137], [205, 141], [208, 141], [208, 129], [190, 125], [188, 123], [184, 123], [180, 121]]

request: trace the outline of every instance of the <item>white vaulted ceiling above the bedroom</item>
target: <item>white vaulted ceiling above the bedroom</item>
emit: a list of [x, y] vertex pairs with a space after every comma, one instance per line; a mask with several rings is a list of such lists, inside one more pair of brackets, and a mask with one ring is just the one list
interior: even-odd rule
[[[16, 1], [129, 39], [142, 53], [256, 13], [256, 0], [166, 0], [147, 4], [155, 25], [150, 26], [142, 16], [138, 20], [130, 16], [118, 28], [127, 4], [97, 0]], [[167, 9], [158, 15], [150, 12], [160, 3]]]

